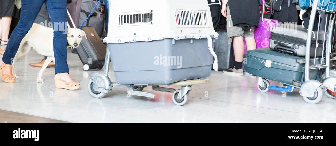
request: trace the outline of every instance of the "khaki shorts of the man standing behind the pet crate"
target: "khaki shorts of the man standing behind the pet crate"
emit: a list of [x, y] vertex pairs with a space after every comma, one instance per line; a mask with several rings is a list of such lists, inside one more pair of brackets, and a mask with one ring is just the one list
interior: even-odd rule
[[226, 19], [226, 30], [227, 37], [239, 37], [243, 36], [244, 38], [254, 37], [254, 28], [252, 30], [244, 30], [241, 26], [234, 26], [232, 18], [230, 15], [229, 6], [227, 6], [227, 19]]

